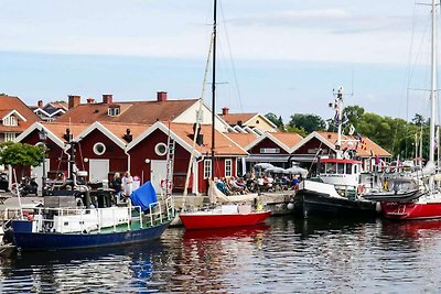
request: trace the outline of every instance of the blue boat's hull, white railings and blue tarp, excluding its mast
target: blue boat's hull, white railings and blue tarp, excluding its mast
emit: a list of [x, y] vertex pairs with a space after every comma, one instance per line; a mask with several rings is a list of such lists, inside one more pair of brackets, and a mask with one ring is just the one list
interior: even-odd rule
[[35, 208], [12, 220], [14, 244], [20, 250], [72, 250], [160, 238], [174, 218], [172, 198], [158, 202], [147, 182], [130, 200], [127, 207]]

